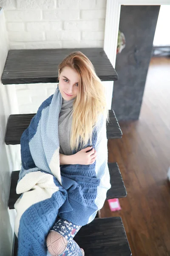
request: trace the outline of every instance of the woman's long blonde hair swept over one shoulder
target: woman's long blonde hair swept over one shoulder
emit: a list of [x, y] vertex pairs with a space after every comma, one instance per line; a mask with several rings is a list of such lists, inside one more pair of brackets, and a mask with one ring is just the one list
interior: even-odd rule
[[93, 129], [98, 116], [103, 114], [109, 122], [109, 111], [105, 98], [105, 87], [91, 61], [80, 51], [71, 52], [59, 64], [59, 75], [64, 67], [76, 70], [79, 76], [77, 97], [73, 102], [73, 119], [71, 126], [71, 150], [87, 145], [90, 139], [92, 145]]

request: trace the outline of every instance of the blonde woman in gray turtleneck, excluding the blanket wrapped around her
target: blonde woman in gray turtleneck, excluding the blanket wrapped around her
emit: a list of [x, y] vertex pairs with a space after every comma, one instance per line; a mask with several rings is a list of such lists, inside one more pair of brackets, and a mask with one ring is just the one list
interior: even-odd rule
[[[59, 91], [63, 98], [59, 114], [60, 165], [92, 164], [97, 155], [94, 148], [88, 153], [86, 151], [90, 149], [89, 147], [78, 151], [77, 154], [72, 154], [72, 150], [74, 146], [78, 146], [76, 139], [79, 136], [85, 144], [88, 142], [99, 113], [102, 112], [106, 118], [108, 117], [102, 83], [96, 76], [91, 61], [82, 52], [72, 52], [62, 61], [59, 65], [58, 80]], [[64, 220], [59, 218], [48, 234], [48, 251], [51, 255], [65, 255], [62, 253], [68, 247], [69, 251], [72, 253], [74, 251], [71, 255], [81, 255], [76, 254], [76, 250], [77, 252], [80, 250], [75, 241], [71, 240], [79, 231], [80, 226], [73, 231], [74, 224], [70, 223], [73, 228], [69, 230], [74, 232], [74, 236], [69, 236], [69, 239], [66, 239], [63, 233], [60, 233], [63, 231], [59, 225], [61, 222], [63, 226]], [[64, 227], [65, 229], [69, 228], [66, 225]], [[69, 230], [67, 234], [69, 234]], [[83, 250], [82, 255], [84, 255]]]

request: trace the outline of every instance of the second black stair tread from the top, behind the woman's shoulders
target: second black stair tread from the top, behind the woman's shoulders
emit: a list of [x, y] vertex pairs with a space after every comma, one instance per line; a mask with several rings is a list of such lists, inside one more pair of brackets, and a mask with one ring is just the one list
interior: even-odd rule
[[[8, 116], [5, 143], [6, 145], [20, 144], [20, 138], [23, 131], [29, 126], [31, 119], [35, 116], [33, 114], [15, 114]], [[113, 109], [109, 110], [110, 122], [107, 124], [107, 138], [116, 139], [122, 137], [122, 131], [116, 119]]]

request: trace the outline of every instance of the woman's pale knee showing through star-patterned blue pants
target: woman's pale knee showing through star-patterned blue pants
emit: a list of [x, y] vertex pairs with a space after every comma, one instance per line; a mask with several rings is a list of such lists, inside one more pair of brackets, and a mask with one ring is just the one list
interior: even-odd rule
[[52, 256], [58, 256], [64, 252], [68, 241], [56, 231], [50, 231], [47, 236], [46, 243], [49, 253]]

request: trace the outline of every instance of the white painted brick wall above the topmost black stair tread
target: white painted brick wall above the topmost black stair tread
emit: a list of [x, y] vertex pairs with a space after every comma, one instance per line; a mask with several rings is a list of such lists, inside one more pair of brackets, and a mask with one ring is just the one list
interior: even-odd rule
[[10, 49], [103, 47], [106, 0], [1, 0]]

